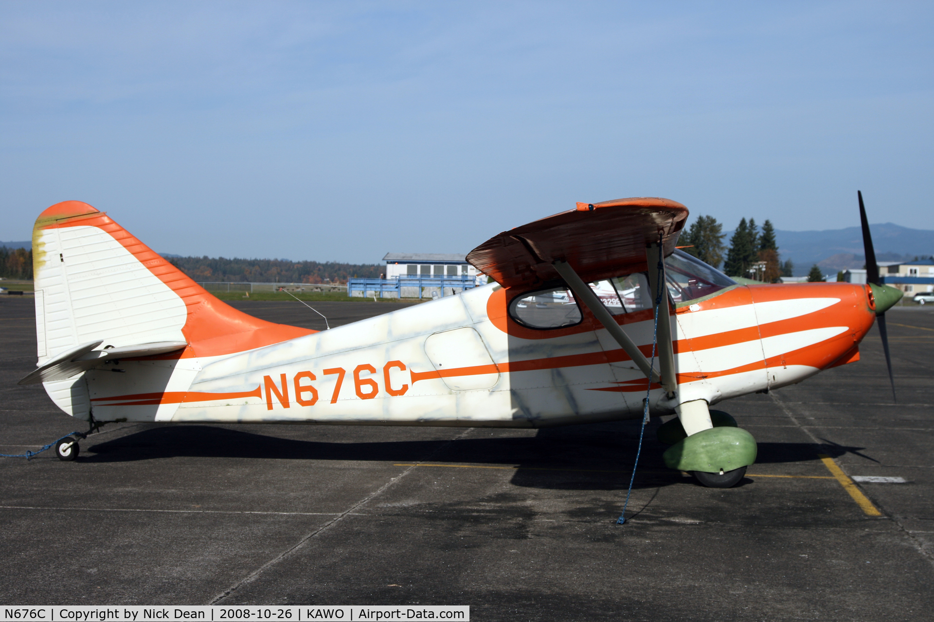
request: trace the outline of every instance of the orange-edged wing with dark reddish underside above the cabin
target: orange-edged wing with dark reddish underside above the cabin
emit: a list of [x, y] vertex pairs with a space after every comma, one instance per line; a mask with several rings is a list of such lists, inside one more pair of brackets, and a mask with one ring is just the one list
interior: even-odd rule
[[645, 247], [661, 236], [674, 252], [687, 208], [654, 197], [577, 203], [577, 208], [503, 231], [467, 255], [474, 268], [504, 286], [558, 279], [566, 261], [585, 281], [645, 270]]

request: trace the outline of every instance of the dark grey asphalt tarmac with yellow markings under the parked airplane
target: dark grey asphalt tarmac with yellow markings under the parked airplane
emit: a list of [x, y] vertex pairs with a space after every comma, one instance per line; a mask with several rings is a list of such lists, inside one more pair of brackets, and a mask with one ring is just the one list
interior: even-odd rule
[[[315, 306], [338, 325], [398, 304]], [[318, 327], [297, 302], [236, 306]], [[2, 458], [0, 601], [469, 604], [474, 620], [930, 620], [934, 311], [897, 308], [887, 319], [898, 405], [873, 329], [856, 364], [720, 405], [759, 443], [736, 488], [665, 470], [653, 421], [622, 526], [638, 422], [113, 424], [81, 442], [76, 462], [52, 451]], [[0, 452], [80, 429], [41, 385], [16, 384], [35, 366], [32, 298], [0, 298], [0, 327]], [[905, 483], [844, 486], [835, 465], [843, 484]]]

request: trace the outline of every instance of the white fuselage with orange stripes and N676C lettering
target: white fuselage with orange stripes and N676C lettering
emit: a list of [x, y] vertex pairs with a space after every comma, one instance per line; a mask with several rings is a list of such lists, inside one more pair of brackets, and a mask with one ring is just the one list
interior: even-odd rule
[[[94, 417], [541, 427], [642, 415], [647, 380], [586, 308], [577, 325], [532, 329], [508, 312], [514, 289], [490, 284], [228, 356], [91, 370]], [[646, 356], [652, 313], [615, 316]], [[865, 286], [807, 283], [733, 285], [673, 316], [679, 401], [714, 405], [857, 360], [874, 311]], [[126, 391], [154, 365], [177, 377], [174, 390]], [[658, 385], [649, 398], [654, 414], [672, 412]]]

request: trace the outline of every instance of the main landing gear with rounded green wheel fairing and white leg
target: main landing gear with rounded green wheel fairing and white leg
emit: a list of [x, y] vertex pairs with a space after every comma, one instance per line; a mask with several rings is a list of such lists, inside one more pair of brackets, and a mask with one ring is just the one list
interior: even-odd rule
[[[707, 404], [698, 402], [681, 405], [679, 416], [658, 428], [658, 442], [672, 446], [662, 456], [665, 464], [687, 471], [708, 488], [735, 486], [745, 476], [746, 467], [756, 462], [756, 439], [722, 410], [710, 410], [707, 420]], [[686, 427], [692, 426], [687, 435]]]

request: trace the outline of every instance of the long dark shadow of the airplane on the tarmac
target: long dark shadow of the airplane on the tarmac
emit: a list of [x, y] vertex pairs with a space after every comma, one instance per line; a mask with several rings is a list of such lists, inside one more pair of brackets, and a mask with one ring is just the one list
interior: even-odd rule
[[[693, 481], [665, 467], [667, 446], [658, 443], [658, 422], [646, 426], [633, 488], [658, 488]], [[469, 463], [515, 469], [512, 483], [526, 488], [618, 491], [629, 487], [638, 449], [639, 422], [573, 425], [539, 430], [534, 436], [474, 437], [456, 441], [412, 440], [325, 442], [281, 438], [213, 425], [164, 425], [94, 443], [78, 458], [121, 463], [173, 457], [320, 460], [390, 463]], [[758, 464], [814, 461], [863, 448], [815, 443], [759, 443]], [[749, 484], [744, 479], [741, 485]]]

